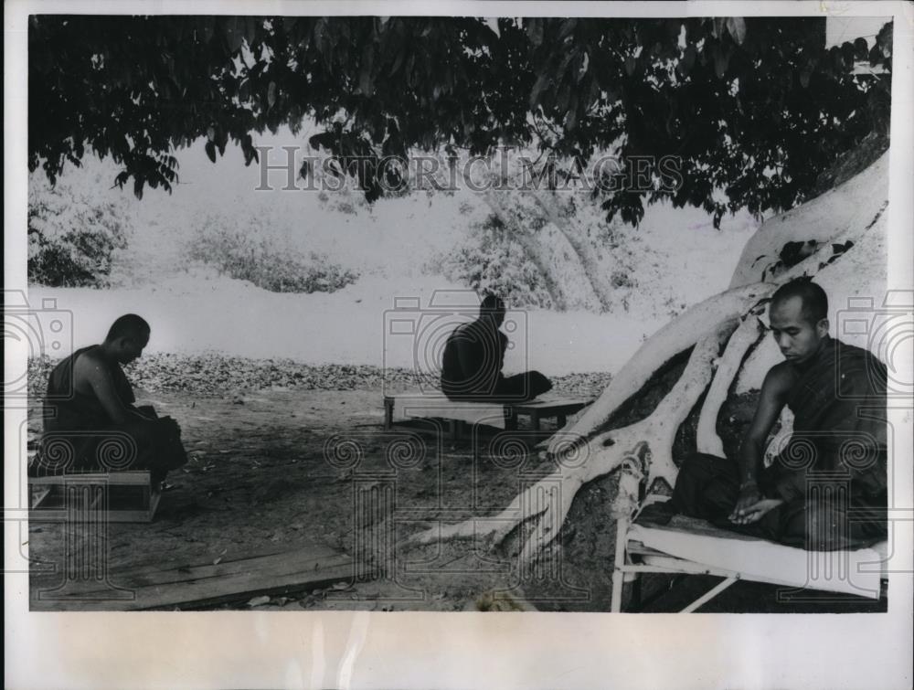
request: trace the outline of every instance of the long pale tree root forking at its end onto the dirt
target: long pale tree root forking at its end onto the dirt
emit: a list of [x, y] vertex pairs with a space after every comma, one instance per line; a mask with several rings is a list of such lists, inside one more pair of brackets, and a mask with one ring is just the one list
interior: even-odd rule
[[671, 452], [675, 432], [710, 383], [720, 347], [737, 324], [739, 319], [718, 324], [696, 345], [682, 377], [647, 419], [600, 434], [589, 444], [579, 446], [579, 452], [562, 452], [556, 471], [519, 494], [499, 515], [471, 518], [440, 530], [431, 528], [412, 536], [410, 541], [424, 544], [438, 539], [493, 536], [499, 542], [517, 525], [535, 519], [521, 549], [521, 557], [527, 560], [558, 536], [583, 484], [612, 472], [634, 455], [646, 456], [643, 462], [649, 468], [648, 483], [659, 477], [672, 485], [676, 472]]

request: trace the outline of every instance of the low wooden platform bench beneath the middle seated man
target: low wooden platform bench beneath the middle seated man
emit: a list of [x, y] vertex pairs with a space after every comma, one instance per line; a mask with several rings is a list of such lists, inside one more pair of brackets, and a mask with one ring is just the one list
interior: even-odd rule
[[530, 418], [534, 430], [540, 430], [542, 419], [556, 419], [561, 429], [569, 415], [584, 409], [591, 402], [591, 398], [537, 398], [529, 402], [503, 404], [452, 400], [443, 394], [385, 396], [384, 428], [392, 429], [397, 421], [403, 419], [444, 419], [456, 438], [464, 423], [515, 430], [518, 417], [523, 415]]

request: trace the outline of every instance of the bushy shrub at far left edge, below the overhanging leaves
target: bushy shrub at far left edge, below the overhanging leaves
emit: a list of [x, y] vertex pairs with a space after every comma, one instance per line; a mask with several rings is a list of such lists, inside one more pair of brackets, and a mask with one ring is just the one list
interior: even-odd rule
[[[101, 186], [101, 179], [96, 180]], [[104, 187], [101, 187], [104, 189]], [[40, 175], [28, 188], [28, 280], [52, 287], [110, 285], [112, 255], [126, 249], [128, 214], [120, 200], [99, 199]]]

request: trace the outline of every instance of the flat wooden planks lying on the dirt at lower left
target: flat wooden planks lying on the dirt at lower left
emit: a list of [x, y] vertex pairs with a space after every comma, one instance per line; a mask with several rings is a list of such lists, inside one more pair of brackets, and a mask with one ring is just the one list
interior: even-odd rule
[[[370, 572], [370, 571], [369, 571]], [[252, 597], [316, 589], [352, 581], [352, 557], [328, 547], [304, 547], [260, 556], [240, 557], [196, 566], [131, 568], [113, 571], [110, 582], [128, 594], [112, 593], [97, 580], [70, 583], [66, 589], [49, 578], [31, 588], [31, 610], [183, 610], [200, 609]], [[366, 577], [366, 566], [359, 568]], [[133, 592], [132, 598], [129, 592]]]

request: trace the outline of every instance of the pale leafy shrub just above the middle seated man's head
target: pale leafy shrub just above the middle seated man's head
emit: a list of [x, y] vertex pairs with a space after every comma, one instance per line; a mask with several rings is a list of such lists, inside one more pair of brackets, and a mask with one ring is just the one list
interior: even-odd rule
[[514, 307], [552, 306], [536, 265], [494, 216], [473, 224], [467, 239], [431, 260], [427, 271], [480, 294], [493, 292]]

